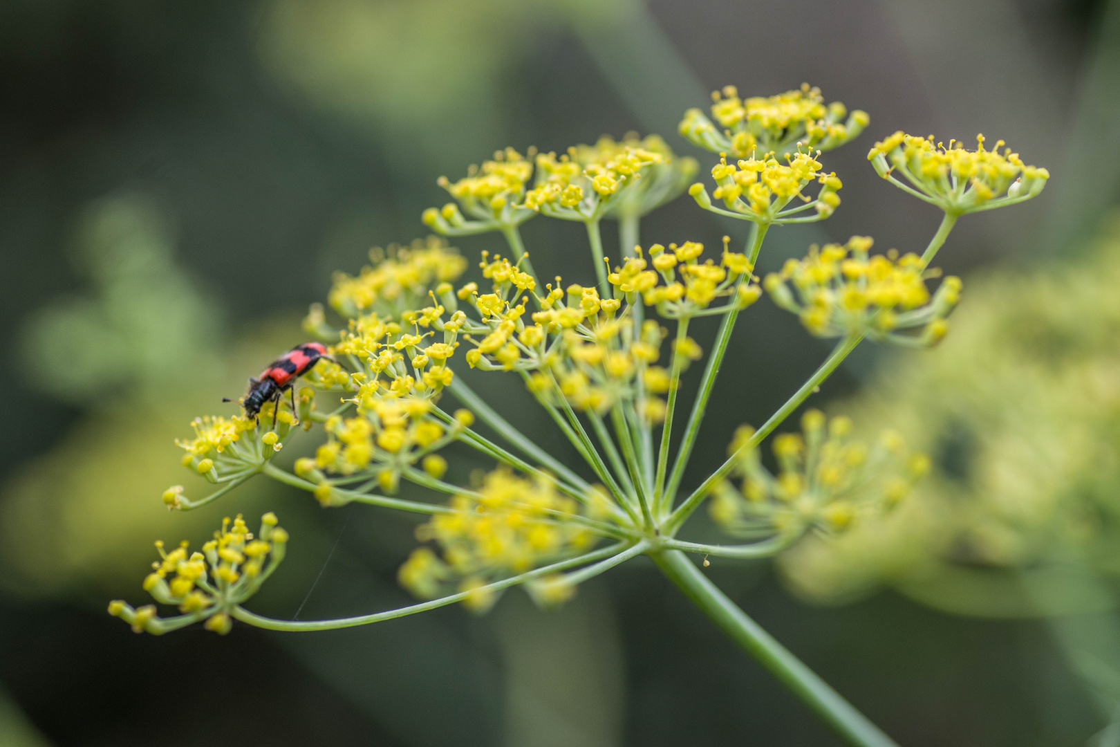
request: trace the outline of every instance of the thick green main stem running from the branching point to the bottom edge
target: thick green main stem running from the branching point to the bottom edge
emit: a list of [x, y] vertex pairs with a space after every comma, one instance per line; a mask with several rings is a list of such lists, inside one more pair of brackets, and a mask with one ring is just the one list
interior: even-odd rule
[[670, 550], [654, 554], [653, 560], [731, 641], [766, 667], [846, 741], [857, 747], [897, 747], [870, 719], [728, 599], [684, 553]]

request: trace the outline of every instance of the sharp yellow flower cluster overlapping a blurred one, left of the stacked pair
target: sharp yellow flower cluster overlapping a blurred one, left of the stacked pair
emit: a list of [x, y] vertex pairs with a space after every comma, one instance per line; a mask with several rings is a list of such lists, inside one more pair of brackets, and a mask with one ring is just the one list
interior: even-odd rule
[[557, 157], [536, 157], [536, 183], [525, 193], [525, 207], [569, 221], [590, 221], [617, 208], [628, 188], [666, 156], [609, 138], [596, 146], [573, 146]]

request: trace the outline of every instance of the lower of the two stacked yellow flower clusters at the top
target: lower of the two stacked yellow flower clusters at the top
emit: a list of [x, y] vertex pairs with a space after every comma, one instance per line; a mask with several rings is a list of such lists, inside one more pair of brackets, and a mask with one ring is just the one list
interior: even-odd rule
[[[832, 215], [840, 204], [837, 192], [843, 186], [837, 175], [821, 172], [821, 162], [811, 152], [786, 153], [785, 160], [781, 164], [769, 153], [762, 159], [752, 157], [728, 164], [726, 155], [720, 153], [719, 164], [711, 169], [719, 186], [709, 197], [704, 186], [697, 183], [689, 194], [704, 209], [757, 223], [808, 223]], [[815, 198], [810, 198], [802, 189], [814, 179], [821, 188]], [[786, 208], [794, 197], [801, 204]], [[712, 198], [721, 199], [728, 209], [713, 207]], [[815, 211], [815, 215], [802, 215], [809, 209]]]

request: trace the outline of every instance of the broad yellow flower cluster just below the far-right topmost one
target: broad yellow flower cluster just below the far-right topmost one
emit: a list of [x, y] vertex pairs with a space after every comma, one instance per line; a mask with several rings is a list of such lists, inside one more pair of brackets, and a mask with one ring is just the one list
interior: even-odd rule
[[[940, 273], [916, 254], [868, 255], [869, 236], [843, 246], [814, 244], [803, 260], [788, 260], [763, 281], [774, 302], [801, 317], [818, 337], [866, 335], [904, 345], [931, 345], [949, 330], [945, 317], [960, 298], [961, 281], [950, 277], [931, 298], [925, 281]], [[793, 290], [788, 283], [793, 284]], [[921, 328], [916, 335], [898, 330]]]

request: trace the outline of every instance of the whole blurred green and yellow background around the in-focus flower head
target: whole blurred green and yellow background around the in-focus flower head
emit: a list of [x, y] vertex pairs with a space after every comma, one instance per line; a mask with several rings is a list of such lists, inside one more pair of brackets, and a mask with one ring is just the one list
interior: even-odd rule
[[[446, 202], [438, 176], [507, 144], [628, 130], [706, 170], [675, 134], [685, 108], [725, 84], [803, 81], [871, 125], [824, 159], [844, 181], [836, 216], [771, 232], [763, 270], [857, 233], [925, 245], [939, 215], [865, 160], [897, 129], [1004, 138], [1053, 179], [959, 224], [939, 262], [965, 301], [943, 347], [868, 345], [814, 402], [903, 429], [934, 456], [930, 486], [777, 568], [710, 572], [903, 745], [1120, 744], [1118, 3], [6, 0], [0, 745], [837, 744], [644, 561], [558, 611], [519, 591], [486, 617], [327, 634], [153, 638], [104, 611], [143, 599], [152, 540], [198, 542], [222, 515], [267, 510], [292, 542], [254, 609], [401, 604], [411, 522], [261, 480], [168, 514], [167, 485], [197, 487], [172, 439], [301, 342], [333, 270], [423, 235], [420, 212]], [[687, 198], [642, 231], [745, 236]], [[579, 226], [524, 233], [543, 276], [590, 279]], [[700, 325], [706, 347], [713, 332]], [[825, 353], [753, 307], [685, 480]], [[520, 384], [472, 383], [566, 452]], [[472, 455], [450, 456], [465, 475]], [[696, 536], [715, 538], [703, 523]]]

